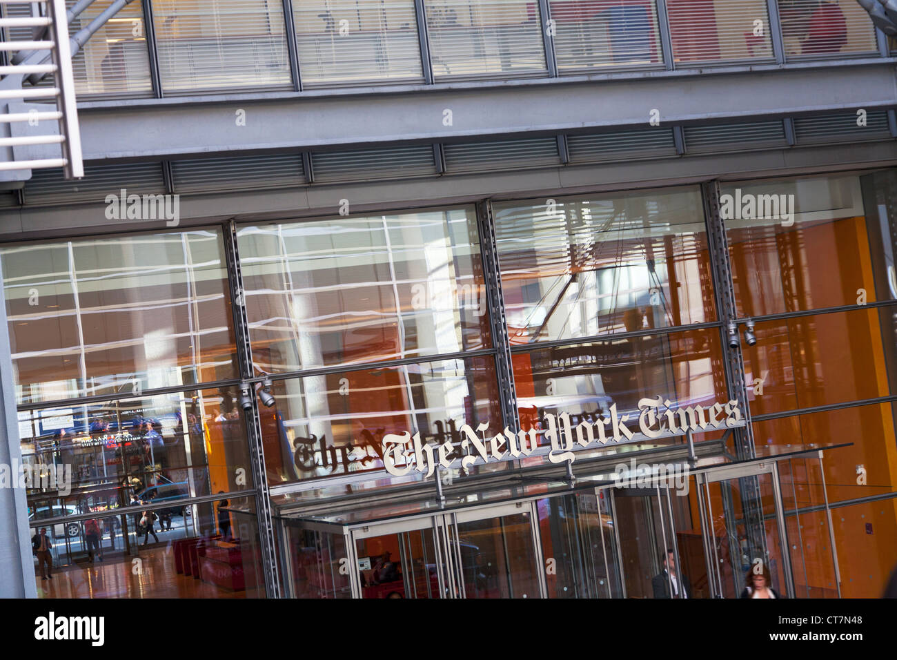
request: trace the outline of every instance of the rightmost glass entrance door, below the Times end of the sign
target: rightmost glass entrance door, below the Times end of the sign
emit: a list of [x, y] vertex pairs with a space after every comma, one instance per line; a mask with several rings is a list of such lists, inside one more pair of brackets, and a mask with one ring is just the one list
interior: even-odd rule
[[737, 598], [754, 576], [778, 594], [794, 597], [788, 539], [775, 464], [698, 476], [701, 523], [713, 593]]

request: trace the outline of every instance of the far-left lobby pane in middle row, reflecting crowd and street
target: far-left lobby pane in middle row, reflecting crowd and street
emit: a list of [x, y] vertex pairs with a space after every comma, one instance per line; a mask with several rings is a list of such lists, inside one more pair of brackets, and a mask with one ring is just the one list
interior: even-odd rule
[[[73, 492], [117, 506], [252, 488], [237, 388], [22, 411], [22, 464], [70, 466]], [[55, 492], [54, 488], [50, 488]]]

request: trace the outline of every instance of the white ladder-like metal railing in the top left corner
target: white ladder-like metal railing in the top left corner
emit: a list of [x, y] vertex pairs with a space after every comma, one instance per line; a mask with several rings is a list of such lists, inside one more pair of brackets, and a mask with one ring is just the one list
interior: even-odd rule
[[[31, 5], [31, 15], [10, 16], [9, 5], [16, 4], [20, 9]], [[81, 178], [84, 165], [65, 0], [0, 0], [0, 7], [4, 10], [0, 51], [8, 62], [0, 66], [0, 181], [28, 180], [31, 170], [51, 167], [63, 168], [66, 179]], [[27, 13], [24, 9], [18, 13]], [[30, 28], [32, 38], [7, 39], [16, 28]], [[35, 85], [50, 74], [54, 84], [23, 87], [26, 79]], [[44, 99], [51, 102], [29, 102]]]

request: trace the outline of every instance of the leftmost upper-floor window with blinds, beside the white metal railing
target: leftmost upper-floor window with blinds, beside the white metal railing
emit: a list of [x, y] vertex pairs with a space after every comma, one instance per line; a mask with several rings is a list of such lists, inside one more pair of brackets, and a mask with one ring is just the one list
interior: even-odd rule
[[[75, 0], [67, 0], [71, 9]], [[70, 34], [86, 28], [112, 0], [95, 0], [69, 23]], [[144, 6], [136, 0], [118, 10], [72, 58], [75, 91], [78, 97], [98, 94], [152, 93], [150, 59], [146, 48]]]

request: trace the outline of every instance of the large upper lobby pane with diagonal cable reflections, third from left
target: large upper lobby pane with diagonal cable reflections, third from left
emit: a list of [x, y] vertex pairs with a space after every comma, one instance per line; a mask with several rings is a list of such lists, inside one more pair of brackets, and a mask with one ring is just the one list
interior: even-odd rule
[[698, 189], [496, 205], [513, 344], [714, 321]]

